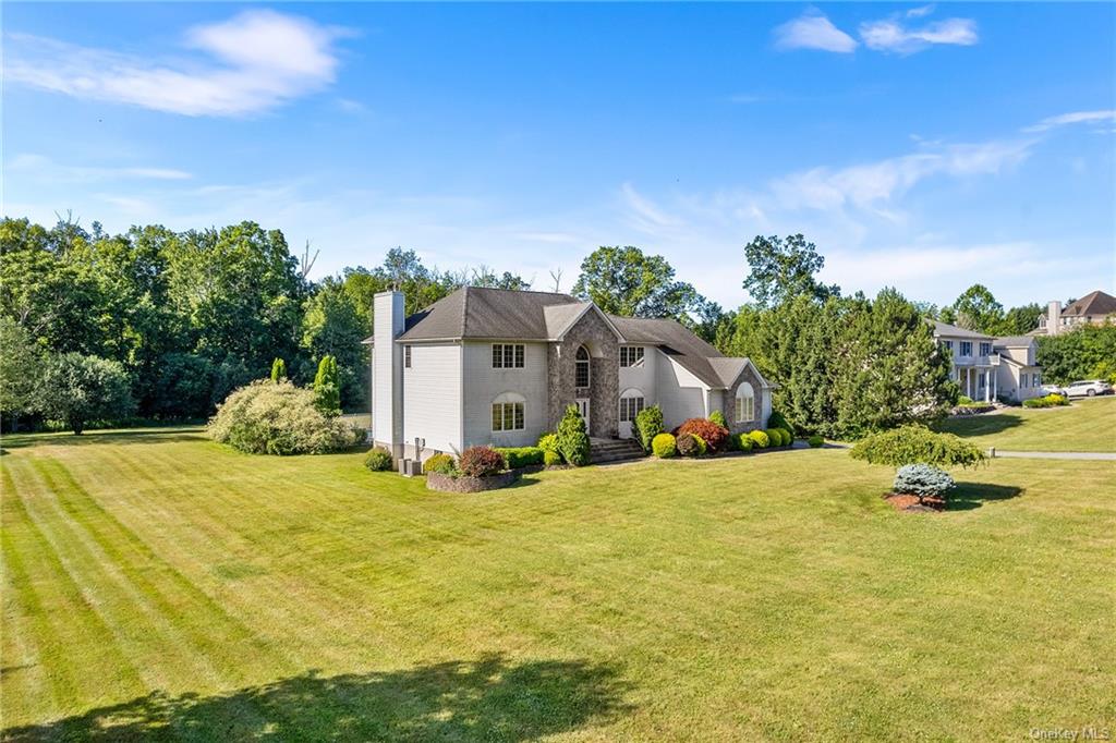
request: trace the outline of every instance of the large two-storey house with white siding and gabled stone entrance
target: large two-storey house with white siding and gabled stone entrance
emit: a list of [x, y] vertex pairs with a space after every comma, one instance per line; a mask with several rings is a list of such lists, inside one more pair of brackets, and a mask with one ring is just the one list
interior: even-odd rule
[[397, 459], [533, 445], [571, 404], [595, 440], [632, 437], [651, 405], [667, 428], [719, 409], [734, 432], [750, 431], [771, 413], [772, 385], [751, 361], [725, 357], [674, 320], [475, 287], [411, 317], [398, 291], [373, 306], [372, 438]]

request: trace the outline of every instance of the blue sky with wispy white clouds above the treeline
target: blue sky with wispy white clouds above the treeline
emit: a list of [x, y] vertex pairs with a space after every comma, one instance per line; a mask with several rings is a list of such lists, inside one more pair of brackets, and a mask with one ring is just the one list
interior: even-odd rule
[[3, 211], [254, 220], [562, 288], [600, 244], [735, 307], [804, 232], [846, 291], [1116, 291], [1116, 6], [20, 4]]

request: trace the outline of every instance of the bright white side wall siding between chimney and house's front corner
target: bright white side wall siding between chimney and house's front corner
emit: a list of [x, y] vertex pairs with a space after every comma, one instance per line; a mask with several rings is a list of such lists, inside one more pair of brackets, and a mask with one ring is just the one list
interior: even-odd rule
[[411, 345], [411, 367], [403, 369], [406, 444], [421, 436], [427, 450], [461, 451], [461, 354], [458, 344]]

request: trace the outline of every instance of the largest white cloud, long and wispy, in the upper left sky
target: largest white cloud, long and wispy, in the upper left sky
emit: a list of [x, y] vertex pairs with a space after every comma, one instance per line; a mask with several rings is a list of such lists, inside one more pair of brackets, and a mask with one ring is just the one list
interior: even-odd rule
[[333, 83], [340, 29], [272, 10], [248, 10], [186, 31], [196, 54], [145, 56], [9, 35], [4, 78], [76, 98], [186, 116], [244, 116]]

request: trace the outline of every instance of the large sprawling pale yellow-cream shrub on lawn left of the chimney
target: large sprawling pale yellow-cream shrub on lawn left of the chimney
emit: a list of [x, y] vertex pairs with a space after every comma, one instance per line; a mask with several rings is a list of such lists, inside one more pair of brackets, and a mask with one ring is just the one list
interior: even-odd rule
[[210, 419], [214, 441], [249, 454], [324, 454], [356, 443], [340, 418], [325, 415], [309, 389], [253, 382], [234, 390]]

